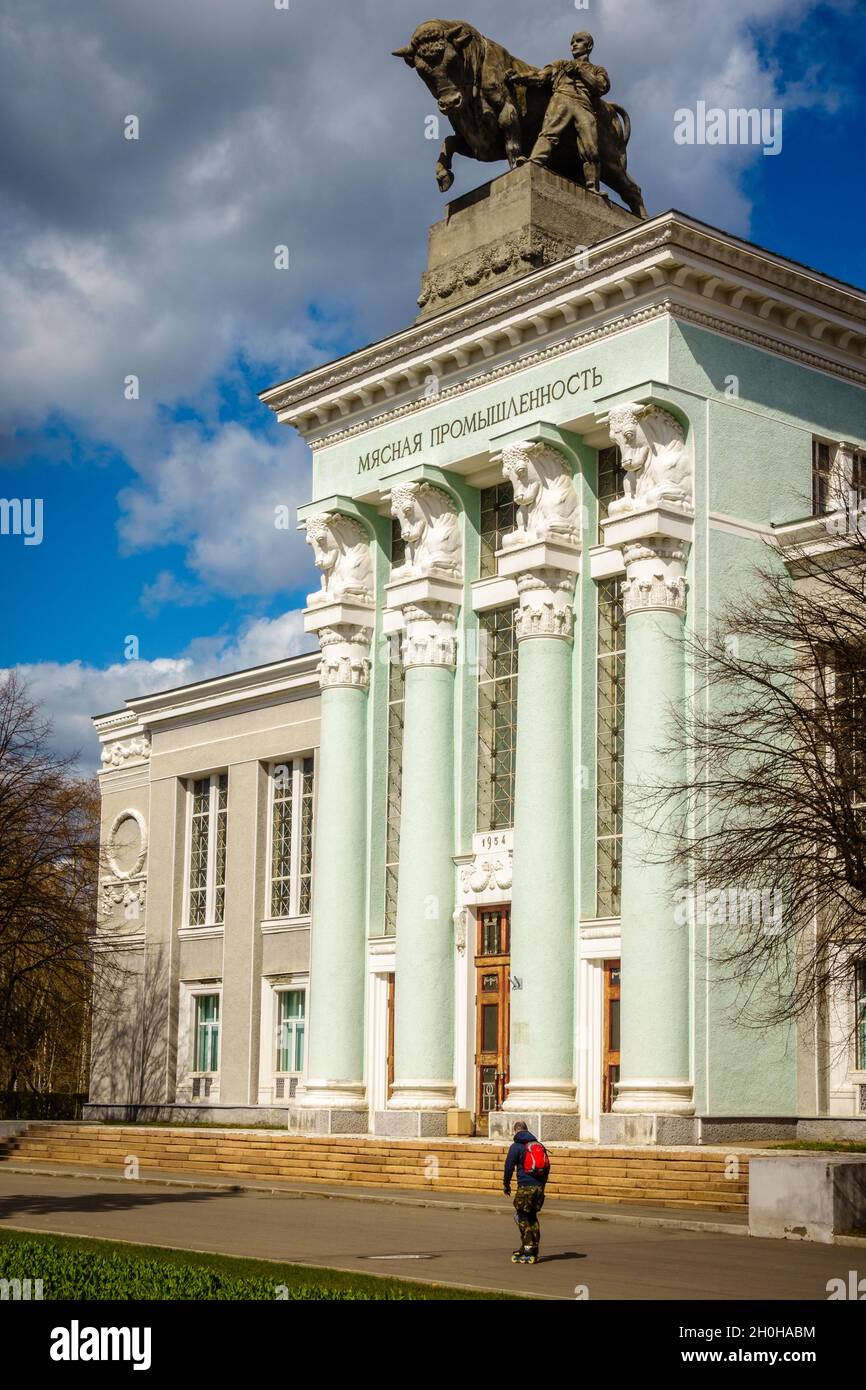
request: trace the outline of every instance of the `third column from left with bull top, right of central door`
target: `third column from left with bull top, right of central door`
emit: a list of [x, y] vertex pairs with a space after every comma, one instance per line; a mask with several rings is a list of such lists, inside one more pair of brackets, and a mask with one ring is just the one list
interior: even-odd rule
[[512, 885], [510, 1079], [491, 1134], [520, 1115], [541, 1138], [578, 1138], [574, 1084], [574, 760], [571, 664], [580, 509], [545, 441], [502, 455], [517, 527], [499, 552], [517, 582], [517, 749]]

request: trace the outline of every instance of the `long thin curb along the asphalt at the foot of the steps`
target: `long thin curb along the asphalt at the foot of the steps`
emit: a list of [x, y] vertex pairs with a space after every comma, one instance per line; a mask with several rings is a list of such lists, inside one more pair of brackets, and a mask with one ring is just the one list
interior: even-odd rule
[[[78, 1177], [90, 1179], [92, 1182], [100, 1183], [125, 1183], [128, 1179], [118, 1177], [117, 1173], [96, 1173], [93, 1170], [76, 1170], [74, 1168], [47, 1168], [39, 1166], [32, 1168], [24, 1163], [0, 1163], [0, 1173], [22, 1173], [29, 1177]], [[143, 1183], [150, 1187], [182, 1187], [182, 1188], [200, 1188], [206, 1191], [218, 1193], [265, 1193], [270, 1197], [317, 1197], [320, 1201], [348, 1201], [348, 1202], [379, 1202], [386, 1207], [432, 1207], [442, 1208], [443, 1211], [473, 1211], [473, 1212], [489, 1212], [495, 1216], [512, 1216], [512, 1205], [503, 1205], [503, 1202], [493, 1201], [459, 1201], [455, 1198], [432, 1198], [432, 1197], [406, 1197], [403, 1194], [391, 1193], [377, 1193], [374, 1191], [348, 1191], [346, 1188], [334, 1187], [304, 1187], [304, 1186], [272, 1186], [270, 1183], [249, 1183], [249, 1182], [220, 1182], [217, 1179], [199, 1177], [158, 1177], [149, 1173], [146, 1177], [135, 1179], [136, 1183]], [[552, 1202], [559, 1201], [553, 1198]], [[606, 1222], [612, 1226], [639, 1226], [639, 1227], [657, 1227], [662, 1230], [689, 1230], [699, 1232], [703, 1234], [713, 1236], [748, 1236], [749, 1227], [741, 1222], [714, 1222], [714, 1220], [701, 1220], [694, 1216], [644, 1216], [638, 1212], [605, 1212], [605, 1211], [580, 1211], [575, 1208], [560, 1208], [559, 1205], [548, 1207], [549, 1215], [566, 1216], [570, 1220], [596, 1220]], [[858, 1237], [849, 1237], [858, 1240]], [[863, 1240], [866, 1244], [866, 1240]]]

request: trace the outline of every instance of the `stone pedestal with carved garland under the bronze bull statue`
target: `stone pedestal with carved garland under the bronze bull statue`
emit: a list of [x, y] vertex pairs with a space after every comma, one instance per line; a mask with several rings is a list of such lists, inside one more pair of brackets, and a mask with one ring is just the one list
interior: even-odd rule
[[418, 320], [638, 227], [639, 217], [537, 164], [523, 164], [448, 204], [430, 229]]

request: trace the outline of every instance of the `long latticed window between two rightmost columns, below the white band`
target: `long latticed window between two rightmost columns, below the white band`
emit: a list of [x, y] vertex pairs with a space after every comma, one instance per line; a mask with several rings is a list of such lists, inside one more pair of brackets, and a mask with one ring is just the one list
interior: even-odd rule
[[598, 728], [595, 913], [620, 910], [623, 847], [623, 730], [626, 716], [626, 616], [623, 582], [598, 585]]

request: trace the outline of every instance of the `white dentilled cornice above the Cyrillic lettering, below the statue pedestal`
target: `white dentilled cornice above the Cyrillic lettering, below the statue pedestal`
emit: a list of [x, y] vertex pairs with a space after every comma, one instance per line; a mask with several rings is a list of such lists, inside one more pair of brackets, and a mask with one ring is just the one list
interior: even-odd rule
[[866, 293], [856, 288], [681, 213], [599, 242], [588, 261], [570, 257], [534, 271], [272, 386], [261, 400], [321, 446], [427, 409], [431, 375], [442, 399], [659, 313], [866, 385]]

